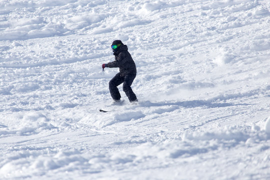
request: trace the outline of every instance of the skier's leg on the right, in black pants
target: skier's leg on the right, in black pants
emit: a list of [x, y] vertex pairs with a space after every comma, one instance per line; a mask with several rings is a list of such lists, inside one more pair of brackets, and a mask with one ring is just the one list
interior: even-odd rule
[[135, 77], [136, 77], [136, 74], [128, 74], [124, 76], [124, 80], [123, 80], [123, 91], [128, 97], [128, 100], [130, 102], [137, 99], [135, 93], [132, 91], [130, 87]]

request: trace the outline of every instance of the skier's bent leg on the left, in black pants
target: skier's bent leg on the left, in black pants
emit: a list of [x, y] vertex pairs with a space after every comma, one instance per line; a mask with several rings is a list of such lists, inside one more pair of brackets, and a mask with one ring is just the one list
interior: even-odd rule
[[113, 100], [119, 100], [121, 95], [117, 88], [123, 82], [123, 77], [121, 77], [120, 73], [117, 73], [110, 81], [109, 81], [109, 92]]

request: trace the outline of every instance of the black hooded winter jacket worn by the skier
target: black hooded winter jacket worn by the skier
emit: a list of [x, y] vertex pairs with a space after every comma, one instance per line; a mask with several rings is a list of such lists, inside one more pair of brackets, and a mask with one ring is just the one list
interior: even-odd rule
[[107, 63], [107, 66], [119, 67], [121, 75], [136, 74], [136, 65], [130, 53], [127, 51], [127, 46], [122, 44], [118, 48], [118, 51], [113, 53], [115, 60]]

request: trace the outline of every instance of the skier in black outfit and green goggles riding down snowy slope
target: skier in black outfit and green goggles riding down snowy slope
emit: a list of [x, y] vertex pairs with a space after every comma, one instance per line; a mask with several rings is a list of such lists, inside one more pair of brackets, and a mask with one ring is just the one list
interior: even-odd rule
[[125, 92], [130, 102], [136, 102], [137, 97], [131, 89], [131, 84], [136, 77], [136, 65], [133, 61], [128, 48], [121, 40], [114, 40], [111, 44], [115, 60], [113, 62], [103, 63], [102, 68], [105, 67], [119, 67], [119, 72], [109, 81], [109, 91], [114, 103], [121, 102], [121, 95], [117, 88], [123, 83], [123, 91]]

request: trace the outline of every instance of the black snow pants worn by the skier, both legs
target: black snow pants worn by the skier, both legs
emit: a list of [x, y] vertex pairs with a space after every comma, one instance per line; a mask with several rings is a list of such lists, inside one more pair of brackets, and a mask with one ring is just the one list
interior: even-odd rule
[[137, 97], [134, 94], [134, 92], [131, 89], [131, 84], [136, 77], [136, 74], [126, 74], [121, 75], [121, 73], [117, 73], [110, 81], [109, 81], [109, 92], [111, 97], [114, 100], [119, 100], [121, 98], [121, 95], [119, 93], [119, 90], [117, 88], [118, 85], [123, 83], [123, 91], [128, 97], [128, 100], [131, 102], [133, 100], [136, 100]]

